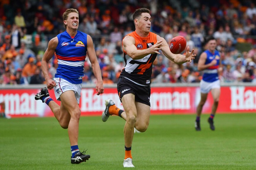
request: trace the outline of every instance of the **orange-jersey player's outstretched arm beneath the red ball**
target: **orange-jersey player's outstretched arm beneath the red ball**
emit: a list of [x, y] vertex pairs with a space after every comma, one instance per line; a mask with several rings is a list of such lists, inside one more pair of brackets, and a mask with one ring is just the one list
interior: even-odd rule
[[181, 54], [173, 54], [170, 51], [170, 48], [167, 44], [167, 42], [165, 41], [164, 38], [160, 37], [159, 35], [157, 35], [157, 41], [162, 41], [162, 46], [160, 46], [161, 51], [163, 52], [163, 54], [170, 59], [171, 61], [177, 63], [177, 64], [183, 64], [187, 61], [191, 62], [193, 59], [195, 59], [195, 54], [193, 54], [194, 49], [189, 52], [189, 47], [187, 47], [187, 52], [186, 55], [181, 55]]

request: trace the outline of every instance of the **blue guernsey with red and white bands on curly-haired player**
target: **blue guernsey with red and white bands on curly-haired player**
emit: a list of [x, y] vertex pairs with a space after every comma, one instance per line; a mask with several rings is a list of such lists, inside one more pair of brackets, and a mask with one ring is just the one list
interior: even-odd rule
[[55, 78], [62, 78], [73, 84], [82, 83], [83, 66], [87, 53], [87, 34], [80, 31], [71, 37], [67, 31], [57, 35], [56, 56], [58, 68]]

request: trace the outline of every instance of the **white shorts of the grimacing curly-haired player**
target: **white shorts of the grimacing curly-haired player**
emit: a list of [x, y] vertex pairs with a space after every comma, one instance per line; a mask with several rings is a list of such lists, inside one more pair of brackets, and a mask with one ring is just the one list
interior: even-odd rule
[[73, 84], [62, 78], [54, 78], [53, 80], [56, 82], [56, 86], [54, 87], [54, 94], [58, 101], [61, 101], [60, 95], [62, 93], [68, 90], [73, 90], [75, 93], [76, 101], [79, 104], [82, 84]]

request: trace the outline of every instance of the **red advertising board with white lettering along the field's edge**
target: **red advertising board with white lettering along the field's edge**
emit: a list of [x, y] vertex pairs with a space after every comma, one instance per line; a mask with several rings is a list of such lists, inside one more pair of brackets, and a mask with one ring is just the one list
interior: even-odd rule
[[[81, 91], [81, 115], [101, 115], [105, 109], [105, 100], [111, 98], [118, 107], [123, 108], [116, 88], [105, 88], [105, 92], [96, 95], [94, 88]], [[5, 102], [5, 113], [11, 117], [53, 116], [50, 108], [42, 101], [36, 101], [37, 89], [1, 89], [0, 102]], [[56, 100], [53, 90], [50, 96]], [[151, 114], [195, 114], [200, 101], [199, 87], [152, 87]], [[211, 94], [203, 108], [203, 113], [210, 113], [213, 100]], [[218, 113], [256, 112], [256, 87], [222, 87]]]

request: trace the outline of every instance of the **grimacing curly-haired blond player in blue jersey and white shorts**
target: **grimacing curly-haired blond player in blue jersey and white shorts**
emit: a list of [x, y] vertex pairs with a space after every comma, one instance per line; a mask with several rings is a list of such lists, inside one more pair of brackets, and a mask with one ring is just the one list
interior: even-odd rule
[[[82, 88], [83, 66], [88, 53], [91, 67], [97, 78], [97, 95], [104, 92], [99, 63], [96, 58], [92, 39], [89, 35], [78, 31], [79, 16], [76, 9], [67, 9], [63, 14], [66, 31], [49, 41], [48, 48], [42, 58], [42, 72], [45, 76], [47, 88], [54, 89], [56, 99], [61, 101], [60, 106], [49, 96], [47, 88], [42, 88], [35, 99], [45, 102], [53, 111], [62, 128], [68, 129], [71, 145], [71, 163], [81, 163], [90, 158], [78, 148], [78, 127], [80, 119], [80, 92]], [[58, 59], [58, 68], [52, 80], [48, 74], [48, 63], [54, 52]]]

